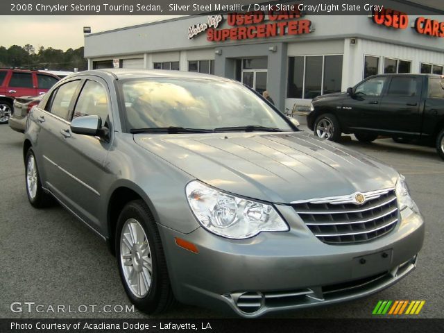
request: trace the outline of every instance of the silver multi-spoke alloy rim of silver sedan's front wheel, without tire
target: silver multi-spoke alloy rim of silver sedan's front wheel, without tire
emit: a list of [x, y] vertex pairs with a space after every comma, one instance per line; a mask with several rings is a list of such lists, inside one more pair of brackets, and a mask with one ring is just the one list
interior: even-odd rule
[[144, 298], [150, 291], [153, 262], [148, 239], [142, 225], [128, 219], [120, 236], [120, 264], [126, 284], [137, 298]]

